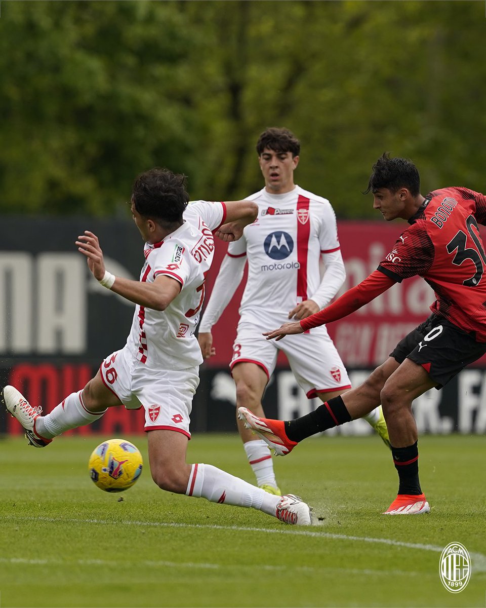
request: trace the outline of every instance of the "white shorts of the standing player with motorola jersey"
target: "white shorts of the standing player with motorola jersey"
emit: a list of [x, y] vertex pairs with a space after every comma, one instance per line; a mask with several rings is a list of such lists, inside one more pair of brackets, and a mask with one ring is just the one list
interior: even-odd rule
[[242, 362], [255, 363], [267, 376], [275, 370], [278, 351], [286, 354], [296, 381], [309, 399], [318, 392], [351, 389], [346, 368], [325, 327], [304, 334], [286, 336], [275, 342], [262, 333], [268, 328], [248, 322], [238, 323], [230, 368]]

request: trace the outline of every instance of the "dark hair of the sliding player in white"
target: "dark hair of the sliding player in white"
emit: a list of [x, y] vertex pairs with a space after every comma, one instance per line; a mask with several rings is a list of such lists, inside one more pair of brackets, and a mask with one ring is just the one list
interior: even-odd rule
[[132, 187], [135, 209], [158, 224], [181, 224], [189, 201], [185, 181], [185, 175], [161, 167], [141, 173]]

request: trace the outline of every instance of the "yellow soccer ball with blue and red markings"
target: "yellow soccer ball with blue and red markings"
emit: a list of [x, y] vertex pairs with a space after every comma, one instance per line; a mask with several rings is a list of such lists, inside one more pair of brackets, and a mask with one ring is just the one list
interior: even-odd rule
[[87, 466], [98, 488], [105, 492], [123, 492], [140, 477], [142, 454], [125, 439], [109, 439], [95, 447]]

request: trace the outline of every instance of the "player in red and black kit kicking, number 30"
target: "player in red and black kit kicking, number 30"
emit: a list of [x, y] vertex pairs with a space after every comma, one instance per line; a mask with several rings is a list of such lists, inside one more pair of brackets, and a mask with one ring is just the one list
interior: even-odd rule
[[415, 165], [383, 154], [373, 165], [365, 194], [386, 221], [403, 218], [402, 232], [378, 269], [334, 303], [300, 322], [265, 333], [281, 340], [330, 323], [371, 302], [395, 283], [419, 275], [434, 289], [432, 314], [397, 344], [363, 384], [335, 397], [315, 412], [291, 421], [239, 415], [276, 453], [288, 454], [310, 435], [360, 418], [382, 404], [399, 474], [399, 491], [385, 514], [428, 513], [420, 488], [417, 425], [412, 401], [440, 389], [486, 352], [486, 253], [478, 224], [486, 224], [486, 196], [462, 187], [420, 194]]

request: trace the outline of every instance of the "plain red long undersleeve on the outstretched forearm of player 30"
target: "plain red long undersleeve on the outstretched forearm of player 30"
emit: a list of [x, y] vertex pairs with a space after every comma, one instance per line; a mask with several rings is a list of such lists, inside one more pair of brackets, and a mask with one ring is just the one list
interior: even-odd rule
[[307, 331], [313, 327], [324, 325], [324, 323], [342, 319], [348, 314], [354, 313], [361, 306], [365, 306], [371, 300], [374, 300], [375, 297], [385, 292], [392, 285], [395, 285], [395, 283], [394, 279], [379, 270], [375, 270], [369, 277], [346, 291], [335, 302], [326, 306], [326, 308], [318, 313], [311, 314], [310, 317], [302, 319], [300, 322], [301, 328]]

